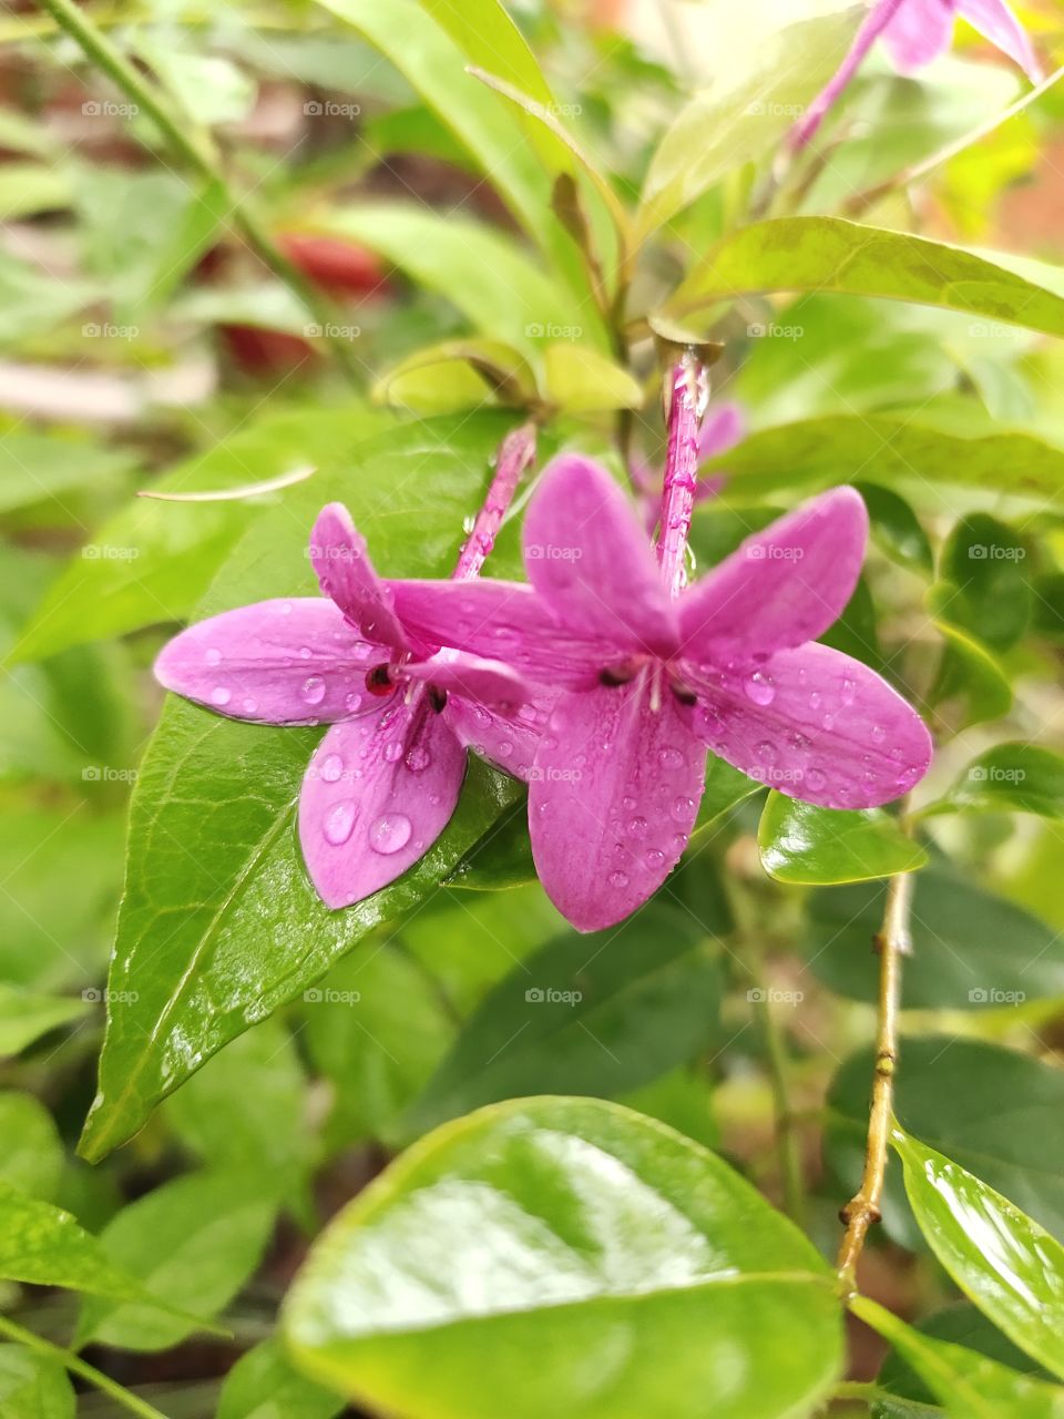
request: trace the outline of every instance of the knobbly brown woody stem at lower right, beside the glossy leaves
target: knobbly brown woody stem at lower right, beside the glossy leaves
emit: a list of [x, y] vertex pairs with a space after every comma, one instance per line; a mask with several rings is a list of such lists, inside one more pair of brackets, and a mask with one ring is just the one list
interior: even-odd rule
[[875, 949], [880, 954], [880, 999], [864, 1175], [860, 1191], [840, 1213], [846, 1223], [846, 1233], [838, 1249], [838, 1274], [847, 1293], [853, 1293], [857, 1287], [857, 1260], [864, 1249], [868, 1229], [882, 1215], [880, 1203], [894, 1118], [894, 1076], [898, 1069], [901, 965], [902, 959], [912, 952], [909, 912], [914, 880], [912, 873], [899, 873], [897, 877], [891, 877], [887, 884], [882, 928], [875, 937]]

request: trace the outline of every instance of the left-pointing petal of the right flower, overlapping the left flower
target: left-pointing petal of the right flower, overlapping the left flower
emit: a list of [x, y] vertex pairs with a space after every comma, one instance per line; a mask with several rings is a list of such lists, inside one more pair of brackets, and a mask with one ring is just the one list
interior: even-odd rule
[[390, 582], [403, 624], [426, 640], [501, 657], [532, 681], [590, 687], [617, 658], [611, 641], [562, 626], [519, 582]]

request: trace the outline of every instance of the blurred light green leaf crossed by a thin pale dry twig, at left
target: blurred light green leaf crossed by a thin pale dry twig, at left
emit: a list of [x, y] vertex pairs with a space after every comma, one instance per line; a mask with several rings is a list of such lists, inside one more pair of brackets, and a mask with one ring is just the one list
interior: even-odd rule
[[[301, 467], [338, 474], [355, 463], [359, 446], [382, 420], [380, 413], [359, 406], [267, 413], [170, 470], [153, 491], [226, 491]], [[226, 502], [135, 498], [94, 534], [60, 576], [13, 657], [35, 660], [81, 641], [183, 619], [251, 521], [284, 505], [291, 492]]]

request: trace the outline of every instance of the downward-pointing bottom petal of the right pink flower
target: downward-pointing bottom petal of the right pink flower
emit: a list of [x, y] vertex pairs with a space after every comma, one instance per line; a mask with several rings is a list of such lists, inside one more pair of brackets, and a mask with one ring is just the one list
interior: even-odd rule
[[671, 694], [630, 685], [563, 694], [529, 785], [536, 871], [580, 931], [621, 921], [680, 860], [705, 788], [705, 749]]

